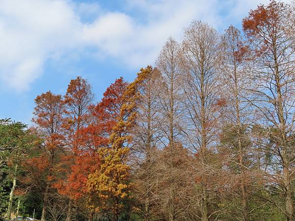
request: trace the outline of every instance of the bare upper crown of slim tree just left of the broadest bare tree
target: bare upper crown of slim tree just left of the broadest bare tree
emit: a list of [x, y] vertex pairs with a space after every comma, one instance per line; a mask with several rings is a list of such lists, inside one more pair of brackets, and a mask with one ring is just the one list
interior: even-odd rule
[[[163, 47], [156, 68], [161, 73], [159, 91], [160, 124], [164, 145], [179, 141], [181, 135], [181, 48], [177, 41], [169, 38]], [[167, 142], [168, 141], [168, 142]]]

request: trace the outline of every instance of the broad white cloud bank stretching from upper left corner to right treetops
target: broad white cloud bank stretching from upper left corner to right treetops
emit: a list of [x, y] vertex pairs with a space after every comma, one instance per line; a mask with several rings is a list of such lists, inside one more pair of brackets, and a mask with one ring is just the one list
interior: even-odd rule
[[[222, 30], [258, 4], [257, 0], [125, 1], [124, 11], [112, 12], [97, 3], [70, 0], [0, 0], [1, 84], [26, 90], [40, 77], [47, 59], [90, 47], [132, 67], [145, 66], [169, 36], [180, 39], [193, 19]], [[89, 15], [95, 17], [85, 21]]]

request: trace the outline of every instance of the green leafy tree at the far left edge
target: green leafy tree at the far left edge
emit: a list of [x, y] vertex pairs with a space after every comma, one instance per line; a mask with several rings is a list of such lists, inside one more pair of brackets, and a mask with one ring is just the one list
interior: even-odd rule
[[[0, 214], [7, 210], [9, 193], [14, 177], [20, 177], [23, 163], [29, 149], [38, 145], [39, 139], [21, 122], [13, 122], [9, 118], [0, 120]], [[18, 184], [17, 184], [18, 185]], [[15, 196], [16, 198], [18, 196]], [[17, 203], [13, 204], [13, 208]], [[16, 208], [14, 208], [16, 209]]]

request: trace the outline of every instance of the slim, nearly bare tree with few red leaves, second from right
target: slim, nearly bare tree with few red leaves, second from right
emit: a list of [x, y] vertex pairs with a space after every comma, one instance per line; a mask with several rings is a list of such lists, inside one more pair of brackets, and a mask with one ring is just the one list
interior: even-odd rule
[[[224, 114], [223, 122], [223, 145], [225, 144], [229, 151], [230, 161], [235, 162], [234, 176], [238, 175], [240, 191], [242, 198], [242, 220], [249, 221], [249, 196], [247, 174], [249, 169], [249, 157], [251, 153], [251, 143], [248, 138], [250, 125], [250, 103], [249, 88], [251, 82], [249, 78], [249, 68], [247, 67], [247, 47], [243, 42], [240, 31], [230, 26], [221, 36], [219, 68], [220, 91], [223, 99], [226, 99], [227, 111]], [[233, 180], [232, 180], [233, 181]]]

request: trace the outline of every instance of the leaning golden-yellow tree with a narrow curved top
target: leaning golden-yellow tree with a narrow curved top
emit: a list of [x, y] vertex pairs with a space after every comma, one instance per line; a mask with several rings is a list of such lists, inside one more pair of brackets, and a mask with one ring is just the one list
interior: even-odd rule
[[118, 121], [110, 136], [111, 147], [98, 150], [100, 170], [89, 175], [89, 191], [96, 193], [92, 201], [99, 202], [95, 205], [89, 202], [89, 207], [95, 211], [112, 211], [113, 221], [118, 221], [122, 201], [130, 195], [130, 167], [127, 165], [128, 143], [131, 141], [129, 131], [135, 124], [136, 108], [140, 102], [138, 89], [151, 71], [151, 66], [142, 68], [135, 81], [128, 84], [122, 97], [123, 104]]

